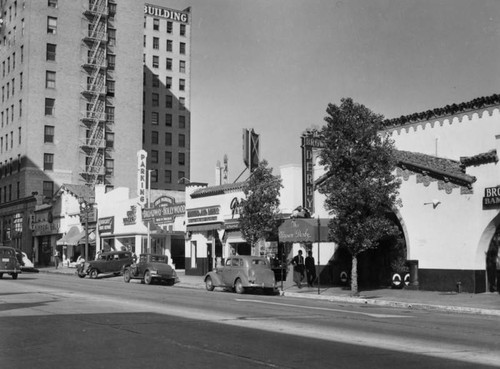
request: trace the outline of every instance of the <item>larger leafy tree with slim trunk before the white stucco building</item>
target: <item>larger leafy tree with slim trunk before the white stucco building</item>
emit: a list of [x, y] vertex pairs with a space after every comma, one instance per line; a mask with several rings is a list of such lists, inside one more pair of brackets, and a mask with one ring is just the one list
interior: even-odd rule
[[358, 293], [357, 257], [398, 229], [386, 216], [400, 205], [393, 142], [381, 133], [383, 116], [351, 98], [329, 104], [322, 129], [321, 164], [327, 176], [320, 192], [334, 215], [330, 236], [352, 257], [351, 293]]

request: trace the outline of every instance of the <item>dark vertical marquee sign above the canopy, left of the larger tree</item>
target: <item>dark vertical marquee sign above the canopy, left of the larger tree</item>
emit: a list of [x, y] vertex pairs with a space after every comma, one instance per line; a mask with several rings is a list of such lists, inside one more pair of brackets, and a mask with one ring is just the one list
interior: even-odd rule
[[302, 206], [314, 213], [314, 163], [313, 150], [325, 147], [317, 130], [302, 134]]

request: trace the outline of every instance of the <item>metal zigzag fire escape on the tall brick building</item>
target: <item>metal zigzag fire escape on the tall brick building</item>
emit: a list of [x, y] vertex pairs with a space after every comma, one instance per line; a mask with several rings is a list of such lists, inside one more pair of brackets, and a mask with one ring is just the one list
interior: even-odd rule
[[81, 94], [85, 107], [81, 122], [85, 137], [80, 140], [84, 163], [80, 174], [89, 186], [105, 183], [107, 18], [108, 0], [89, 0], [83, 14], [88, 29], [83, 37], [86, 59], [82, 65], [85, 80]]

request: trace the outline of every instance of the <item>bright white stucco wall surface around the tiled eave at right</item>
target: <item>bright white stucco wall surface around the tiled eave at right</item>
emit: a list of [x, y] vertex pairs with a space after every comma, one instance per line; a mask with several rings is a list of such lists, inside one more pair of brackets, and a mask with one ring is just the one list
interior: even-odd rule
[[[392, 131], [395, 146], [401, 150], [436, 155], [459, 161], [497, 149], [500, 134], [498, 108], [468, 116], [443, 119], [442, 122], [422, 122]], [[417, 183], [413, 174], [403, 181], [399, 209], [406, 232], [408, 259], [419, 260], [420, 268], [484, 269], [485, 252], [495, 231], [499, 210], [483, 209], [486, 187], [499, 185], [500, 166], [495, 163], [466, 168], [475, 176], [472, 194], [461, 194], [460, 188], [451, 193], [438, 189], [433, 181], [426, 187]], [[434, 208], [432, 202], [439, 200]]]

